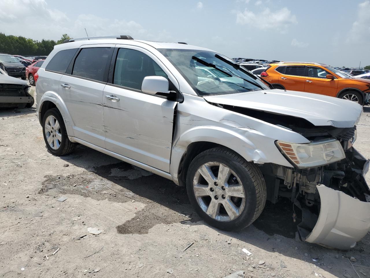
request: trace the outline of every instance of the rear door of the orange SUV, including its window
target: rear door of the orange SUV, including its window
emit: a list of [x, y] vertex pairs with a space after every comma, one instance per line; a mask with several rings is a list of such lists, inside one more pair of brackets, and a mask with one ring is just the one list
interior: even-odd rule
[[304, 92], [306, 66], [286, 66], [285, 73], [280, 73], [279, 84], [286, 90]]

